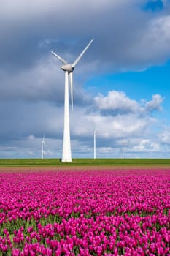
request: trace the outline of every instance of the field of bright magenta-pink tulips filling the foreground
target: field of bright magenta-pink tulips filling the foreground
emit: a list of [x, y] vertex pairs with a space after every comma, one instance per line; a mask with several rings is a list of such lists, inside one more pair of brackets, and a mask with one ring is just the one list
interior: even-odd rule
[[1, 170], [0, 255], [170, 256], [170, 170]]

